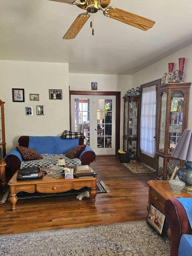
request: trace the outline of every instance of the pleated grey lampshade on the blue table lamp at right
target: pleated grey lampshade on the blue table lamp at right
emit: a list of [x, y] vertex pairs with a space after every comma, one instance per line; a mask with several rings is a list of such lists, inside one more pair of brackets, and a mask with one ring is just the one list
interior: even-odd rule
[[171, 156], [192, 161], [192, 130], [185, 129]]

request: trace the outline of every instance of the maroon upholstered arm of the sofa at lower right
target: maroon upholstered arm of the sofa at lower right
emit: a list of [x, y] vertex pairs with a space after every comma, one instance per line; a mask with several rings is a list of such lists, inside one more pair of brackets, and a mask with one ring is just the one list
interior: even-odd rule
[[170, 237], [170, 256], [177, 256], [181, 236], [190, 234], [192, 229], [185, 209], [176, 199], [169, 199], [165, 202], [165, 217], [170, 226], [167, 231]]

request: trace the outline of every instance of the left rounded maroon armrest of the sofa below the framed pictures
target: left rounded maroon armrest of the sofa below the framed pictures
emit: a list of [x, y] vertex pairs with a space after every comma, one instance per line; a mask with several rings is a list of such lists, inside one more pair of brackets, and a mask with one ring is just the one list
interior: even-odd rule
[[12, 149], [5, 157], [4, 160], [11, 168], [11, 172], [14, 173], [16, 170], [19, 170], [21, 162], [23, 161], [21, 154], [17, 149]]

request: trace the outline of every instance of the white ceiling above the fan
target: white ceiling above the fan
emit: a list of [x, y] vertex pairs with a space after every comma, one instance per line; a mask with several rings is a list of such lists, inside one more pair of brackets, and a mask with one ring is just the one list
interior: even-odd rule
[[[83, 11], [47, 0], [0, 0], [0, 59], [69, 63], [70, 73], [134, 74], [192, 44], [191, 0], [111, 0], [114, 6], [155, 20], [142, 31], [94, 14], [73, 40], [63, 40]], [[182, 56], [181, 56], [182, 57]]]

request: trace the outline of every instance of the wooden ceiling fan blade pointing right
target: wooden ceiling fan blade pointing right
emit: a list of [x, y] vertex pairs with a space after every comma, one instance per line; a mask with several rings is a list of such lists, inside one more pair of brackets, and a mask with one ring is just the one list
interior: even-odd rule
[[153, 20], [114, 7], [105, 8], [104, 15], [144, 31], [151, 29], [155, 24]]

